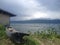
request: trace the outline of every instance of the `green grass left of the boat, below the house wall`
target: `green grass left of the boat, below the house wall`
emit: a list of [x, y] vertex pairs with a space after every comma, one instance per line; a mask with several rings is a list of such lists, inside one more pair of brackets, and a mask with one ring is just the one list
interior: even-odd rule
[[14, 45], [5, 33], [5, 27], [0, 24], [0, 45]]

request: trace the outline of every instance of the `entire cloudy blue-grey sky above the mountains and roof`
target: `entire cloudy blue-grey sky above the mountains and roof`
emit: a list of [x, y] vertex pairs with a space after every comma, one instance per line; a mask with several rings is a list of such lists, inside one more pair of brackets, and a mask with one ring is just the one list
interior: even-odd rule
[[16, 15], [12, 21], [60, 19], [60, 0], [0, 0], [0, 8]]

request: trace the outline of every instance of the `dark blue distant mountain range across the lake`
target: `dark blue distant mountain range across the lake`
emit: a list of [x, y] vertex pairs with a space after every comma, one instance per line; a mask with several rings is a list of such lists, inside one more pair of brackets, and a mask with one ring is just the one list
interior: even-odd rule
[[60, 23], [60, 19], [33, 19], [25, 21], [11, 21], [11, 23]]

